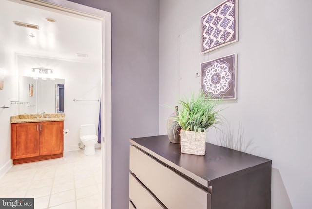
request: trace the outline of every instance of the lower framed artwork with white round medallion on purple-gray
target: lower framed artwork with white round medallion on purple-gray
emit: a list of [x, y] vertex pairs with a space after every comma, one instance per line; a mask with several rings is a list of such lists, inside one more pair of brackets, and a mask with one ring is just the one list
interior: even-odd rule
[[231, 54], [200, 64], [200, 88], [212, 98], [237, 99], [237, 55]]

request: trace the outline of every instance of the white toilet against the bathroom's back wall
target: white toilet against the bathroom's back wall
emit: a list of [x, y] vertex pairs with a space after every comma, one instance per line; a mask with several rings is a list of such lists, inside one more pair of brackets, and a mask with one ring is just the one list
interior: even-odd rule
[[85, 145], [84, 154], [94, 155], [96, 153], [94, 147], [98, 141], [96, 126], [94, 124], [80, 125], [80, 140]]

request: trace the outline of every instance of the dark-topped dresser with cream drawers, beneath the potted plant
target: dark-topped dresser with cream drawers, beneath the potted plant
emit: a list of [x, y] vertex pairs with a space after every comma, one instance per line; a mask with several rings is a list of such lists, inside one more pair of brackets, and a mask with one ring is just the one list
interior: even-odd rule
[[271, 164], [206, 143], [181, 154], [167, 135], [130, 139], [129, 209], [271, 209]]

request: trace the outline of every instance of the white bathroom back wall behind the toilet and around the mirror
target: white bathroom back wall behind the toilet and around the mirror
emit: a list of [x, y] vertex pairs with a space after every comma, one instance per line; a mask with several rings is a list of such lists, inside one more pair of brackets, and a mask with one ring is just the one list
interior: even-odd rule
[[[64, 150], [76, 150], [78, 148], [79, 127], [81, 124], [93, 123], [98, 130], [99, 102], [82, 101], [74, 102], [73, 99], [80, 100], [98, 100], [101, 97], [101, 65], [100, 63], [78, 63], [65, 60], [47, 59], [30, 56], [17, 56], [18, 71], [20, 76], [31, 76], [31, 68], [46, 67], [53, 69], [55, 78], [65, 80], [65, 121], [64, 129], [69, 129], [70, 133], [64, 135]], [[41, 81], [38, 83], [55, 81]], [[38, 88], [40, 85], [38, 84]], [[38, 89], [39, 92], [40, 89]], [[51, 90], [51, 89], [50, 89]], [[53, 92], [53, 89], [50, 91]], [[55, 95], [50, 97], [55, 98]], [[47, 97], [46, 97], [47, 98]], [[51, 106], [51, 105], [50, 105]], [[32, 107], [29, 107], [32, 108]], [[52, 107], [38, 109], [39, 112], [52, 112], [55, 109], [55, 103]], [[23, 112], [22, 112], [23, 111]], [[51, 111], [51, 112], [50, 112]], [[26, 113], [25, 107], [20, 110], [21, 114]]]

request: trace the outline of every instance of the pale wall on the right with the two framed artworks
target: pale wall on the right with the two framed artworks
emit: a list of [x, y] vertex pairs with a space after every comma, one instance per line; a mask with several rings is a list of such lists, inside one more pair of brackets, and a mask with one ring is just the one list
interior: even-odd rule
[[[312, 1], [239, 0], [239, 42], [200, 53], [200, 16], [223, 0], [160, 0], [159, 103], [199, 91], [200, 63], [238, 55], [238, 99], [222, 115], [253, 154], [272, 160], [272, 208], [312, 208]], [[160, 106], [159, 132], [172, 110]], [[220, 127], [226, 132], [226, 124]], [[217, 144], [220, 131], [210, 129]]]

